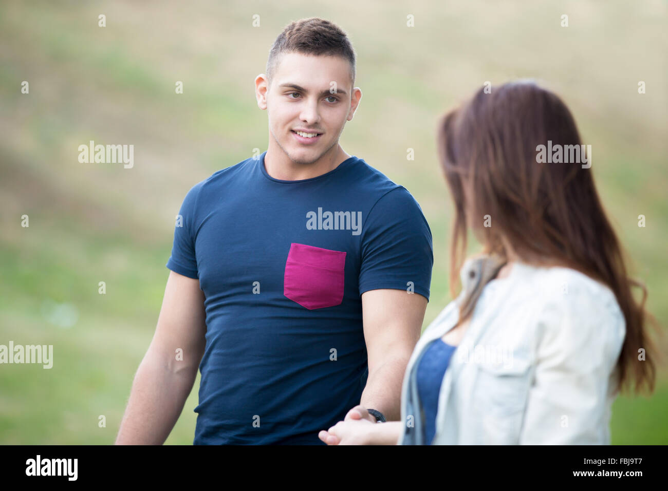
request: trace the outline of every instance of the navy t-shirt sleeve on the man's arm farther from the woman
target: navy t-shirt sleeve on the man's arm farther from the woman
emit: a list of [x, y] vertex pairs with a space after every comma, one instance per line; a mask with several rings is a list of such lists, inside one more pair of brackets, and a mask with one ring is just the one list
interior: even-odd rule
[[166, 264], [168, 269], [194, 279], [199, 278], [195, 257], [194, 217], [196, 199], [201, 184], [200, 182], [190, 188], [181, 204], [178, 215], [175, 217], [172, 255], [170, 255]]

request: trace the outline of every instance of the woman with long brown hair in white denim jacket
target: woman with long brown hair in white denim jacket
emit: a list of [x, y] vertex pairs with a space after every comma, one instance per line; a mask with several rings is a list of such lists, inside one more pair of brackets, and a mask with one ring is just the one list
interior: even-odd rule
[[[617, 392], [653, 391], [647, 293], [627, 276], [568, 108], [532, 82], [481, 89], [443, 118], [438, 144], [462, 292], [415, 346], [401, 421], [374, 424], [360, 406], [321, 440], [609, 444]], [[464, 263], [468, 228], [483, 253]]]

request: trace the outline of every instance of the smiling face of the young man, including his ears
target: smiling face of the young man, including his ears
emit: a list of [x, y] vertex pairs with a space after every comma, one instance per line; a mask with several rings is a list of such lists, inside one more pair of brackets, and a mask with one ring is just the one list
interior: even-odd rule
[[338, 150], [345, 122], [353, 119], [361, 98], [351, 85], [347, 59], [284, 53], [268, 90], [266, 83], [263, 75], [256, 79], [258, 104], [267, 109], [270, 138], [293, 162], [313, 164]]

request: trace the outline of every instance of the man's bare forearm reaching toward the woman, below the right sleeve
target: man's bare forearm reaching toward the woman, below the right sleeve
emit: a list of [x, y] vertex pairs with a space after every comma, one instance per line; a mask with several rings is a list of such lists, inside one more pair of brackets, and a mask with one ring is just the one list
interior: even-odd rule
[[380, 411], [387, 421], [401, 418], [401, 383], [426, 309], [427, 299], [418, 293], [379, 289], [362, 294], [369, 377], [360, 405]]

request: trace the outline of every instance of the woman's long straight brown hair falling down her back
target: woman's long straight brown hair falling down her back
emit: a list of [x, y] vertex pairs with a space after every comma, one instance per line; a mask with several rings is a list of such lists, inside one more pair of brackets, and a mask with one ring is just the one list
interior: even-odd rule
[[[566, 105], [531, 81], [495, 86], [491, 93], [481, 88], [440, 121], [438, 152], [455, 205], [451, 293], [465, 259], [469, 226], [487, 254], [505, 258], [504, 244], [511, 244], [527, 263], [576, 269], [607, 285], [625, 317], [617, 389], [626, 391], [633, 381], [636, 392], [646, 384], [651, 393], [653, 355], [658, 353], [646, 331], [646, 321], [653, 320], [645, 311], [647, 289], [627, 275], [620, 242], [587, 168], [591, 152], [579, 162], [548, 163], [538, 158], [539, 146], [548, 142], [553, 148], [585, 150]], [[494, 220], [492, 226], [476, 226], [485, 219]], [[641, 290], [640, 301], [632, 287]], [[647, 355], [642, 362], [640, 348]]]

